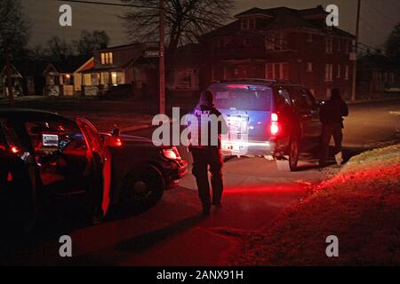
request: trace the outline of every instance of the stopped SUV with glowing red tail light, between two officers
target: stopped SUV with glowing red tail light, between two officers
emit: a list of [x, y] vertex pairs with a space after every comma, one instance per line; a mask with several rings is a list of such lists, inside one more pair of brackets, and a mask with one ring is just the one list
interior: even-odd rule
[[322, 134], [319, 103], [304, 86], [287, 81], [235, 79], [209, 88], [228, 122], [222, 153], [275, 158], [297, 170], [300, 154], [316, 157]]

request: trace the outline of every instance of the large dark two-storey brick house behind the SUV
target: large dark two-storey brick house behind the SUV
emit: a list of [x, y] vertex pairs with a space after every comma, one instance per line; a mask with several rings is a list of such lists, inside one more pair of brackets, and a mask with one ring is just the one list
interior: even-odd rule
[[285, 79], [306, 85], [317, 98], [340, 88], [351, 96], [354, 36], [328, 28], [322, 6], [295, 10], [252, 8], [200, 39], [200, 85], [232, 78]]

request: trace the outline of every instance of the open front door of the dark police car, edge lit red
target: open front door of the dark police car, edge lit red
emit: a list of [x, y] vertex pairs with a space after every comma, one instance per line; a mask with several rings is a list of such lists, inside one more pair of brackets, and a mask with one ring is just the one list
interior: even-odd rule
[[[99, 132], [88, 120], [78, 117], [76, 123], [84, 133], [84, 139], [87, 146], [88, 161], [92, 163], [91, 172], [92, 177], [97, 180], [96, 185], [102, 187], [101, 200], [94, 198], [95, 202], [101, 203], [103, 217], [106, 215], [109, 206], [109, 193], [111, 185], [111, 153], [107, 146], [104, 145], [100, 138]], [[99, 182], [99, 183], [98, 183]]]

